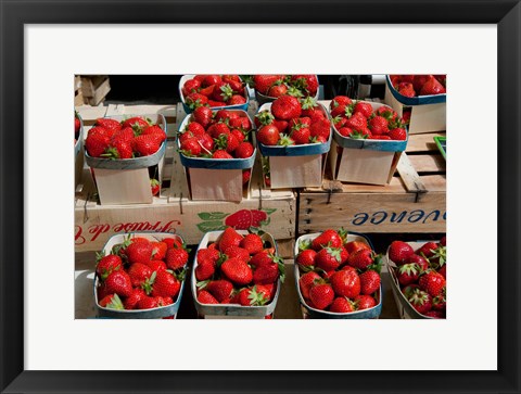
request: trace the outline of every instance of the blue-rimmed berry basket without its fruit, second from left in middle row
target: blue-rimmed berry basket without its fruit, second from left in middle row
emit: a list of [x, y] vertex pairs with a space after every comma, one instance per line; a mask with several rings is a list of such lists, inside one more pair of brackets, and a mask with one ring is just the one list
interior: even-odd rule
[[[247, 116], [252, 127], [254, 123], [245, 111], [231, 110], [230, 112], [241, 113]], [[185, 130], [191, 120], [188, 115], [179, 126], [179, 131]], [[253, 129], [252, 129], [253, 136]], [[255, 143], [253, 154], [247, 158], [206, 158], [189, 157], [179, 152], [179, 157], [185, 167], [188, 188], [191, 200], [211, 200], [211, 201], [241, 201], [250, 190], [250, 180], [243, 186], [242, 171], [250, 169], [253, 171], [257, 149]], [[180, 142], [177, 139], [177, 147], [180, 150]], [[251, 179], [251, 177], [250, 177]], [[245, 189], [245, 193], [244, 193]]]

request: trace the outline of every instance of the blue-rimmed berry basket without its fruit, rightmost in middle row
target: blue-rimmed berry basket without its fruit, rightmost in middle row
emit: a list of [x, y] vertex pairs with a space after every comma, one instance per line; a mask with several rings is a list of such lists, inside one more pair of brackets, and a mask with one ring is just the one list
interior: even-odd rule
[[[385, 106], [371, 104], [372, 110]], [[339, 134], [333, 125], [333, 142], [329, 154], [333, 179], [344, 182], [386, 185], [393, 178], [402, 152], [407, 148], [405, 141], [352, 139]]]

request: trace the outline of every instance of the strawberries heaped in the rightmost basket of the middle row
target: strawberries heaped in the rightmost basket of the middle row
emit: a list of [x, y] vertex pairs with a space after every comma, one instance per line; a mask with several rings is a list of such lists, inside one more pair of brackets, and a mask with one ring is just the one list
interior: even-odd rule
[[336, 131], [346, 138], [368, 140], [405, 141], [407, 131], [404, 122], [390, 106], [372, 111], [370, 103], [354, 101], [346, 96], [336, 96], [329, 104]]

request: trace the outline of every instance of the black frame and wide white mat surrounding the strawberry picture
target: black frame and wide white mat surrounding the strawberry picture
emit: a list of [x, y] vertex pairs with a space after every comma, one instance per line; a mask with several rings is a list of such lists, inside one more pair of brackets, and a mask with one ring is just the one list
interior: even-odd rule
[[[521, 392], [518, 1], [0, 4], [2, 393]], [[281, 68], [447, 75], [447, 319], [75, 319], [74, 75]]]

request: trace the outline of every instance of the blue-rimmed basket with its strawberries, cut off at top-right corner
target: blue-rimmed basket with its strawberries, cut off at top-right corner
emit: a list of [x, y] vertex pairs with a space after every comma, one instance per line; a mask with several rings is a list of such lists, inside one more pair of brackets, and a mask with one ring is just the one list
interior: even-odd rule
[[386, 75], [385, 102], [410, 134], [446, 129], [446, 75]]

